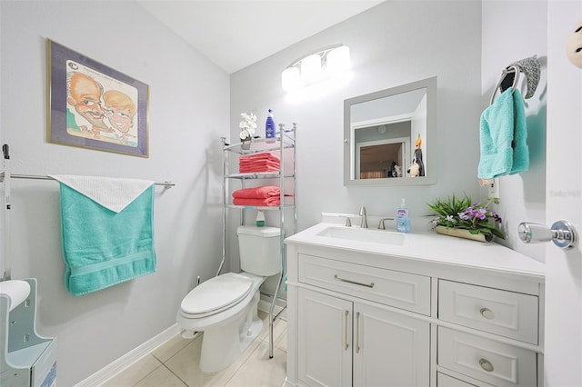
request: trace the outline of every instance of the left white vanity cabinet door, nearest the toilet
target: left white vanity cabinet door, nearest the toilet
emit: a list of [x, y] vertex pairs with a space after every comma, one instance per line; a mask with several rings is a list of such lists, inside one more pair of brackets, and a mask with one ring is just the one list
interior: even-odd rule
[[297, 322], [299, 381], [352, 385], [352, 303], [299, 288]]

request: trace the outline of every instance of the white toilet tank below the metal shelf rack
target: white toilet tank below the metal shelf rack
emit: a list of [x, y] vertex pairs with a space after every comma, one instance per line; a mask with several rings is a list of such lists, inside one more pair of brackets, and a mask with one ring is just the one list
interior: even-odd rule
[[240, 268], [256, 275], [281, 272], [281, 230], [277, 227], [242, 225], [236, 229]]

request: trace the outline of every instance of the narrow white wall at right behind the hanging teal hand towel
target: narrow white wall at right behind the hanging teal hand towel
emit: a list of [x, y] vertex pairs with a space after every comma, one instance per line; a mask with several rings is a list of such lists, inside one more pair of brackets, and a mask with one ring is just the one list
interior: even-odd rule
[[[546, 222], [547, 1], [484, 1], [482, 28], [482, 109], [489, 104], [493, 88], [507, 65], [533, 55], [537, 55], [541, 64], [536, 94], [525, 100], [529, 171], [499, 179], [498, 212], [508, 236], [504, 244], [546, 262], [541, 245], [519, 240], [517, 225]], [[524, 80], [522, 75], [520, 86], [525, 96]]]

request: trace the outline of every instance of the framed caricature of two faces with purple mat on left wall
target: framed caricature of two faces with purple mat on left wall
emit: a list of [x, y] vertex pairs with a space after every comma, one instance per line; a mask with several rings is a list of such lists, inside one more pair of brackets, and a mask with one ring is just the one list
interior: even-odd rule
[[149, 86], [46, 39], [47, 141], [149, 157]]

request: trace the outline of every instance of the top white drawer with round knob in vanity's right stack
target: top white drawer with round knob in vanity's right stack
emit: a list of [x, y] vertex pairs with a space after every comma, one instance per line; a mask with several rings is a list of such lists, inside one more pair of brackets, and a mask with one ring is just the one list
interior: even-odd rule
[[438, 282], [438, 318], [537, 344], [537, 296], [467, 283]]

